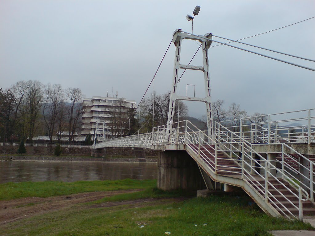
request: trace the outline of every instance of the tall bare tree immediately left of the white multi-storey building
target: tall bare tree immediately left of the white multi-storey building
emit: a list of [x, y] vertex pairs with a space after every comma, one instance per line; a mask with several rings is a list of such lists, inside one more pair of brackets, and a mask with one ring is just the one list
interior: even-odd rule
[[66, 97], [69, 99], [70, 105], [67, 109], [69, 142], [74, 139], [78, 125], [81, 124], [80, 119], [83, 115], [83, 94], [80, 88], [67, 88], [65, 90]]

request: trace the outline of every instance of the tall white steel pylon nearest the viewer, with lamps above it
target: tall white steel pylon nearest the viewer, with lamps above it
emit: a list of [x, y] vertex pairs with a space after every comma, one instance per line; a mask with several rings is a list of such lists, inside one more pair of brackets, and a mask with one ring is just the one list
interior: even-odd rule
[[[175, 101], [178, 100], [186, 100], [186, 101], [198, 101], [204, 102], [206, 104], [207, 110], [207, 128], [208, 135], [213, 138], [213, 122], [212, 122], [212, 109], [211, 109], [211, 90], [210, 90], [210, 77], [209, 77], [209, 58], [208, 58], [208, 49], [212, 43], [212, 41], [207, 40], [212, 39], [212, 34], [208, 33], [206, 35], [193, 36], [181, 32], [181, 29], [177, 29], [173, 33], [173, 43], [175, 44], [175, 62], [174, 62], [174, 72], [172, 79], [172, 89], [169, 99], [169, 114], [167, 119], [167, 124], [169, 128], [172, 129], [174, 111], [175, 111]], [[180, 64], [180, 49], [181, 49], [181, 41], [183, 39], [191, 39], [197, 40], [202, 43], [202, 51], [203, 51], [203, 66], [195, 66], [195, 65], [183, 65]], [[187, 70], [201, 70], [204, 74], [204, 87], [205, 87], [205, 98], [199, 97], [185, 97], [179, 96], [176, 94], [177, 83], [178, 83], [178, 74], [179, 69], [187, 69]]]

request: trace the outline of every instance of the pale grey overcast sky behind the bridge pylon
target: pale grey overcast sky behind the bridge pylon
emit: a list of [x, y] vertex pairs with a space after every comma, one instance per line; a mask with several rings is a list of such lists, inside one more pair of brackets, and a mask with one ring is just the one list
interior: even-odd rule
[[[185, 17], [196, 5], [201, 10], [195, 34], [235, 40], [315, 16], [314, 0], [0, 0], [0, 87], [31, 79], [79, 87], [86, 97], [106, 96], [113, 87], [119, 97], [139, 102], [175, 29], [191, 31]], [[243, 42], [315, 59], [314, 29], [312, 19]], [[196, 42], [184, 41], [181, 63], [188, 63], [197, 48]], [[157, 93], [171, 88], [174, 52], [172, 44], [156, 76]], [[314, 62], [263, 53], [315, 68]], [[249, 114], [315, 108], [314, 71], [224, 45], [210, 48], [209, 56], [213, 101], [223, 99], [226, 107], [235, 102]], [[197, 54], [192, 65], [202, 65], [201, 57]], [[204, 96], [202, 72], [185, 73], [180, 95], [186, 95], [186, 84], [195, 84], [196, 96]], [[205, 114], [204, 104], [187, 105], [189, 115]]]

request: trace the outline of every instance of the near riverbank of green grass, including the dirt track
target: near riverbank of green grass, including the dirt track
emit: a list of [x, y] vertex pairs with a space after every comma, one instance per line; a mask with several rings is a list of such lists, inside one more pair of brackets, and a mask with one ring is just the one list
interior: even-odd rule
[[[308, 223], [267, 216], [247, 195], [189, 197], [158, 190], [155, 180], [25, 182], [21, 189], [10, 184], [1, 184], [0, 191], [25, 192], [23, 198], [0, 201], [2, 235], [267, 236], [269, 230], [314, 230]], [[55, 184], [70, 192], [54, 196]], [[53, 196], [34, 197], [34, 189]], [[68, 194], [73, 190], [80, 193]]]

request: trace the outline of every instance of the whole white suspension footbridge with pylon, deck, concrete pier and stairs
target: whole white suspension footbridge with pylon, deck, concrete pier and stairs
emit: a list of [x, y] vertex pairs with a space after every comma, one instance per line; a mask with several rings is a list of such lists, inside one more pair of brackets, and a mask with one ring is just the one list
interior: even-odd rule
[[[168, 121], [165, 125], [154, 127], [149, 133], [138, 133], [95, 143], [93, 149], [160, 150], [158, 187], [163, 189], [182, 186], [177, 184], [183, 182], [180, 173], [177, 177], [167, 180], [174, 183], [164, 182], [167, 176], [172, 175], [170, 171], [174, 171], [174, 168], [170, 167], [188, 157], [197, 163], [200, 170], [199, 173], [191, 171], [191, 174], [199, 174], [208, 189], [220, 189], [222, 185], [226, 191], [232, 190], [233, 186], [243, 188], [263, 211], [272, 216], [302, 220], [303, 215], [315, 215], [315, 109], [214, 122], [208, 49], [212, 42], [219, 41], [213, 40], [212, 37], [215, 36], [193, 35], [180, 29], [174, 32], [172, 42], [175, 45], [175, 63]], [[180, 63], [182, 40], [196, 40], [201, 43], [203, 66]], [[280, 61], [314, 70], [288, 61]], [[180, 69], [203, 71], [204, 97], [185, 97], [176, 94]], [[207, 114], [207, 130], [200, 130], [188, 120], [174, 122], [176, 100], [203, 102]], [[161, 164], [170, 163], [169, 160], [172, 160], [173, 164], [169, 166]], [[178, 168], [179, 166], [177, 165]], [[185, 172], [185, 175], [189, 173]], [[187, 176], [184, 178], [193, 179]]]

